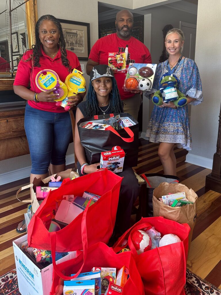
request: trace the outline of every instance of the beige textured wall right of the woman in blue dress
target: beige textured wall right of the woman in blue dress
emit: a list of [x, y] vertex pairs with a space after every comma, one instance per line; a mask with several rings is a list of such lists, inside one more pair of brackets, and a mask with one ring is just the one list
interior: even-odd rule
[[191, 108], [194, 155], [212, 159], [216, 152], [221, 93], [221, 4], [199, 0], [195, 61], [202, 79], [204, 102]]

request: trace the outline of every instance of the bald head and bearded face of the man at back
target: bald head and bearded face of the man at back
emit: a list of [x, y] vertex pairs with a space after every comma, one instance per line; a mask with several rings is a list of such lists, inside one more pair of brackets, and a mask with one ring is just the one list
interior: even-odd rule
[[129, 39], [133, 30], [133, 14], [128, 10], [121, 10], [116, 15], [117, 35], [121, 39]]

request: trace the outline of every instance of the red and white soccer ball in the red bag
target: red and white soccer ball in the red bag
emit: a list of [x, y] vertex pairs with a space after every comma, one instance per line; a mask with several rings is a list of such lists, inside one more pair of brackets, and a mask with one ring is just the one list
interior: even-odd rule
[[152, 246], [150, 236], [143, 230], [135, 230], [131, 234], [131, 241], [137, 251], [137, 254], [150, 250]]

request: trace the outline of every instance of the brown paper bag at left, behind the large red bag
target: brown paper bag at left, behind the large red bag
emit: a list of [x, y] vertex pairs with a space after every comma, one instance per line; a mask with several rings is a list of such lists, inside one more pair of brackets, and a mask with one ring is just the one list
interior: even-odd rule
[[[54, 174], [55, 178], [57, 176], [61, 176], [61, 181], [64, 180], [65, 178], [70, 178], [72, 179], [74, 176], [75, 178], [79, 177], [78, 173], [75, 171], [71, 171], [72, 169], [67, 169], [65, 171], [59, 172], [57, 174]], [[51, 176], [48, 176], [47, 178], [44, 178], [43, 180], [41, 178], [34, 178], [33, 183], [28, 184], [26, 186], [22, 186], [16, 194], [17, 199], [22, 202], [22, 203], [32, 203], [32, 212], [33, 214], [37, 211], [38, 207], [42, 203], [42, 201], [38, 201], [36, 198], [36, 186], [44, 186], [45, 183], [49, 182], [51, 180]], [[18, 194], [21, 191], [24, 191], [25, 189], [30, 189], [31, 188], [31, 198], [28, 200], [20, 200], [18, 197]]]

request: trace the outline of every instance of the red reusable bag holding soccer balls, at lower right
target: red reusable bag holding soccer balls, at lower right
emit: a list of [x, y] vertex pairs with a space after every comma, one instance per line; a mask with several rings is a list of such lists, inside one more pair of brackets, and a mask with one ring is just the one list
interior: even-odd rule
[[[130, 235], [134, 230], [152, 226], [161, 232], [161, 236], [170, 233], [178, 235], [181, 242], [138, 255]], [[121, 246], [123, 240], [128, 240], [146, 295], [184, 295], [189, 231], [190, 227], [186, 223], [179, 224], [163, 217], [142, 218], [118, 239], [113, 249], [117, 253], [125, 248]]]

